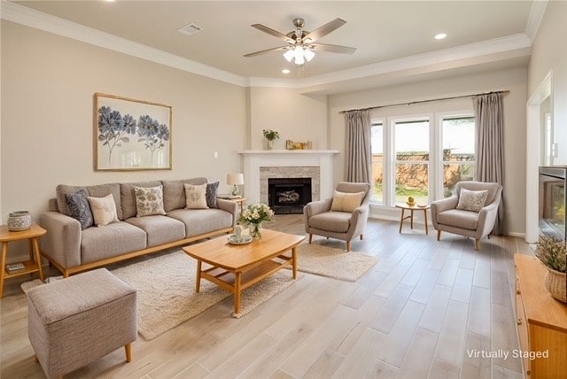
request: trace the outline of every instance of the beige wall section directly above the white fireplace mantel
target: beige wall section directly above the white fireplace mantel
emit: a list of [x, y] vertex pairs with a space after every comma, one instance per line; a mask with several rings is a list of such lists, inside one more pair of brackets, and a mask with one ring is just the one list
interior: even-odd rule
[[250, 89], [250, 145], [263, 149], [263, 129], [279, 132], [274, 149], [285, 149], [285, 140], [313, 142], [313, 149], [327, 149], [327, 97], [306, 96], [297, 89]]

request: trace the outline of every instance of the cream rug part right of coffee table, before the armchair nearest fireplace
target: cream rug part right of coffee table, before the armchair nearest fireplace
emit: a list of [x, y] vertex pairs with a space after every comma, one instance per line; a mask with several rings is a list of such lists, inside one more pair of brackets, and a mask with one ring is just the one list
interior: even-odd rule
[[304, 273], [356, 282], [378, 262], [374, 256], [357, 251], [345, 251], [321, 244], [300, 244], [298, 269]]

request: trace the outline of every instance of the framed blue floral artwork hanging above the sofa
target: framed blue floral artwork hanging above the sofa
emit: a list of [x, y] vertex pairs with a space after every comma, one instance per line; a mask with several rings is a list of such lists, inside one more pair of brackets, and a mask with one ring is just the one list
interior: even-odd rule
[[171, 170], [171, 106], [95, 94], [95, 169]]

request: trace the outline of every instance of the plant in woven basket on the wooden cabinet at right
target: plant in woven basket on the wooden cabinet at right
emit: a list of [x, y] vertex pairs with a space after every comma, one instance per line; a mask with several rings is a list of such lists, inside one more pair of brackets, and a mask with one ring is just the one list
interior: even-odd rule
[[555, 236], [540, 235], [536, 257], [548, 269], [546, 289], [552, 297], [567, 303], [567, 246]]

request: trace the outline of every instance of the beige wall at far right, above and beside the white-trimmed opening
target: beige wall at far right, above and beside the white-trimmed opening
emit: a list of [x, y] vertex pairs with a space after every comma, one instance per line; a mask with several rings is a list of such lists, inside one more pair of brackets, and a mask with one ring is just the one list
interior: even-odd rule
[[567, 2], [550, 1], [532, 43], [528, 66], [528, 97], [552, 70], [554, 142], [558, 143], [555, 165], [567, 165]]

